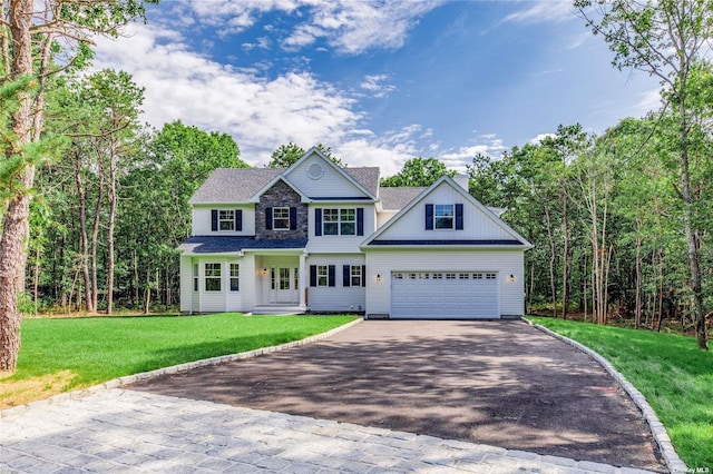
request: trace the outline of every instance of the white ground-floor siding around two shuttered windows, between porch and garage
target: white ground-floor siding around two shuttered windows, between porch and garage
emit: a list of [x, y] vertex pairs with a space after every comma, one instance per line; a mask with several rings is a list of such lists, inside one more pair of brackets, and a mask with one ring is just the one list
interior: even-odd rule
[[[312, 312], [363, 312], [367, 307], [365, 288], [344, 287], [342, 282], [342, 268], [344, 265], [364, 265], [363, 255], [311, 255], [306, 258], [306, 284], [309, 287], [309, 308]], [[310, 266], [334, 265], [335, 282], [333, 287], [310, 286]], [[367, 268], [369, 274], [369, 268]], [[363, 276], [362, 276], [363, 277]], [[369, 284], [369, 282], [367, 283]]]

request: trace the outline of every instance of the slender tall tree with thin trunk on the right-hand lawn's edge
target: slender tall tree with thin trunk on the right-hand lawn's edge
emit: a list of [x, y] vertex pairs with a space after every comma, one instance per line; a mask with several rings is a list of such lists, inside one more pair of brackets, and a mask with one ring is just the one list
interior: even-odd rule
[[694, 216], [696, 196], [691, 182], [693, 117], [688, 86], [696, 63], [703, 61], [704, 53], [710, 51], [713, 0], [575, 0], [575, 6], [592, 31], [602, 34], [609, 45], [614, 52], [613, 65], [619, 69], [638, 69], [661, 79], [663, 97], [675, 110], [678, 186], [696, 338], [699, 347], [707, 349], [701, 271], [702, 229]]

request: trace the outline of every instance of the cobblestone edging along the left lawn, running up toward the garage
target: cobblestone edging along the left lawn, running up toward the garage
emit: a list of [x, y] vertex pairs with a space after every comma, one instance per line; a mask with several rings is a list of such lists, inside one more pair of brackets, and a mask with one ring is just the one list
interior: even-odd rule
[[66, 392], [59, 395], [51, 396], [49, 398], [38, 399], [36, 402], [30, 402], [26, 405], [18, 405], [18, 406], [13, 406], [12, 408], [0, 411], [0, 419], [6, 418], [8, 416], [18, 415], [20, 413], [23, 413], [27, 409], [30, 409], [37, 406], [52, 405], [52, 404], [65, 402], [68, 399], [81, 398], [87, 395], [94, 394], [96, 392], [106, 391], [110, 388], [119, 388], [124, 385], [133, 384], [139, 381], [148, 381], [150, 378], [160, 377], [162, 375], [177, 374], [179, 372], [186, 372], [186, 371], [191, 371], [198, 367], [205, 367], [208, 365], [225, 364], [226, 362], [242, 361], [246, 358], [257, 357], [263, 354], [276, 353], [279, 350], [304, 346], [306, 344], [325, 339], [330, 336], [333, 336], [336, 333], [341, 333], [344, 329], [349, 329], [350, 327], [361, 323], [362, 320], [363, 320], [362, 318], [359, 318], [351, 323], [346, 323], [345, 325], [335, 327], [334, 329], [328, 330], [326, 333], [316, 334], [314, 336], [305, 337], [304, 339], [293, 340], [291, 343], [280, 344], [277, 346], [261, 347], [258, 349], [253, 349], [245, 353], [228, 354], [228, 355], [218, 356], [218, 357], [205, 358], [202, 361], [187, 362], [184, 364], [172, 365], [170, 367], [157, 368], [156, 371], [141, 372], [140, 374], [134, 374], [134, 375], [127, 375], [125, 377], [114, 378], [111, 381], [105, 382], [104, 384], [94, 385], [91, 387], [81, 388], [77, 391]]

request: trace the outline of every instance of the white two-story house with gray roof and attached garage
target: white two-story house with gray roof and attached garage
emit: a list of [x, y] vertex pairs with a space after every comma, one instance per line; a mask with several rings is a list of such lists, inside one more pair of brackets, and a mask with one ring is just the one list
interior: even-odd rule
[[313, 148], [286, 169], [217, 169], [189, 203], [184, 313], [524, 313], [531, 246], [467, 179], [381, 188], [379, 168], [341, 168]]

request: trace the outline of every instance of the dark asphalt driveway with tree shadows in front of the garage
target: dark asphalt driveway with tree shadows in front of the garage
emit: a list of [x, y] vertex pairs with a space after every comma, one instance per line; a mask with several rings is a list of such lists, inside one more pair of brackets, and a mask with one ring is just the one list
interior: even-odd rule
[[368, 320], [129, 388], [665, 471], [608, 374], [522, 322]]

